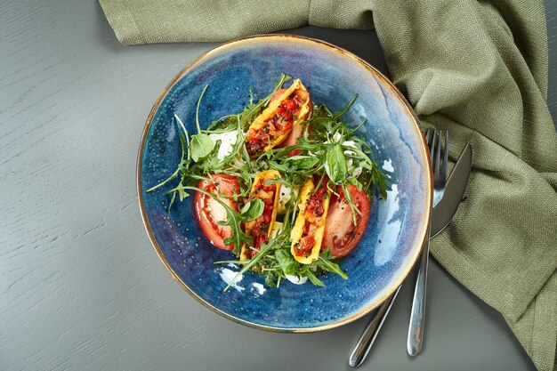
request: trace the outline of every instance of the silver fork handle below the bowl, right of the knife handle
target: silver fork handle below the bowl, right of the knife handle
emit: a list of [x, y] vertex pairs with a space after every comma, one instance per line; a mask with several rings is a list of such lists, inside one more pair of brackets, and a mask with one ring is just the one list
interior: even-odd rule
[[427, 281], [427, 266], [430, 252], [430, 230], [431, 226], [427, 229], [424, 248], [418, 263], [416, 288], [414, 290], [412, 312], [410, 313], [410, 324], [408, 326], [407, 350], [411, 356], [416, 356], [422, 350], [422, 343], [424, 342], [425, 284]]

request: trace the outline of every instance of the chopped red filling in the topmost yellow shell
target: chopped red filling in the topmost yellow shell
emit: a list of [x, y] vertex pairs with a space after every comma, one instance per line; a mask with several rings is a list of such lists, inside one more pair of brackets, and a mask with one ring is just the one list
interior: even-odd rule
[[288, 133], [295, 121], [303, 101], [297, 94], [280, 102], [275, 115], [265, 121], [259, 130], [250, 129], [246, 135], [246, 150], [249, 156], [261, 155], [272, 141]]

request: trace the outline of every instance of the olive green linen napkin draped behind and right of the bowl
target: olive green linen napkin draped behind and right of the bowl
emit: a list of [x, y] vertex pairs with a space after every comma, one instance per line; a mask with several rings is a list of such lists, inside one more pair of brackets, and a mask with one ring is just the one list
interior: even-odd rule
[[466, 141], [474, 149], [467, 198], [433, 256], [503, 314], [537, 369], [557, 370], [557, 135], [541, 1], [100, 2], [123, 44], [375, 28], [422, 123], [450, 132], [451, 159]]

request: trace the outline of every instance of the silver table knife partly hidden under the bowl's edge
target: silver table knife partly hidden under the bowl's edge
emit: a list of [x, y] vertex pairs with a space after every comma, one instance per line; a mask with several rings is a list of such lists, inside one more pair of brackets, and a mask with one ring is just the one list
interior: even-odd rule
[[[432, 213], [432, 227], [430, 230], [431, 237], [434, 237], [447, 227], [448, 222], [456, 213], [458, 205], [463, 198], [468, 177], [472, 171], [472, 145], [468, 142], [464, 150], [458, 157], [453, 171], [448, 176], [447, 185], [443, 198], [439, 201], [437, 206], [433, 207]], [[400, 286], [387, 300], [383, 302], [375, 311], [375, 315], [367, 325], [363, 334], [360, 336], [358, 343], [351, 352], [348, 364], [350, 367], [359, 367], [366, 359], [367, 353], [375, 342], [375, 337], [379, 334], [379, 330], [383, 326], [384, 320], [387, 318], [389, 311], [391, 311], [392, 303], [394, 302], [397, 294], [399, 294]]]

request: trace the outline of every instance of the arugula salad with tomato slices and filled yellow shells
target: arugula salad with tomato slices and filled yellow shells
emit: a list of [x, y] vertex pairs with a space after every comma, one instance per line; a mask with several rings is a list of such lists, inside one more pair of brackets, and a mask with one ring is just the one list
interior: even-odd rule
[[203, 130], [198, 113], [206, 86], [197, 133], [174, 115], [183, 131], [176, 171], [147, 191], [168, 187], [169, 209], [176, 198], [193, 196], [208, 241], [233, 254], [215, 263], [241, 266], [237, 278], [251, 270], [270, 287], [283, 279], [324, 286], [327, 273], [348, 278], [338, 261], [358, 246], [374, 194], [386, 198], [390, 182], [358, 134], [366, 120], [343, 120], [358, 95], [331, 112], [299, 79], [285, 87], [290, 80], [282, 74], [259, 101], [250, 89], [243, 111]]

